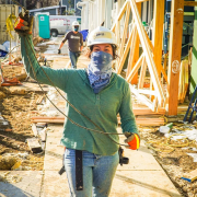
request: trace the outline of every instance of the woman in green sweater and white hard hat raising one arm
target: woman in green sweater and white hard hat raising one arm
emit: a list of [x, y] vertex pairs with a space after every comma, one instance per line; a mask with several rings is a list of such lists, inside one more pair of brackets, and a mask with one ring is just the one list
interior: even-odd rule
[[[20, 15], [23, 19], [23, 15]], [[30, 26], [32, 21], [28, 20]], [[65, 169], [72, 197], [107, 197], [119, 162], [117, 114], [121, 119], [130, 149], [137, 149], [138, 129], [131, 108], [129, 84], [112, 71], [116, 58], [113, 32], [97, 27], [90, 33], [88, 46], [91, 63], [88, 69], [58, 69], [39, 67], [32, 50], [32, 36], [18, 31], [26, 72], [42, 83], [61, 89], [67, 100], [83, 115], [67, 104], [66, 114], [79, 125], [65, 120], [61, 143]], [[47, 77], [46, 77], [47, 76]], [[90, 120], [90, 119], [91, 120]], [[92, 129], [92, 130], [90, 130]], [[96, 131], [107, 132], [109, 135]], [[132, 135], [136, 134], [136, 135]], [[82, 172], [80, 172], [80, 169]]]

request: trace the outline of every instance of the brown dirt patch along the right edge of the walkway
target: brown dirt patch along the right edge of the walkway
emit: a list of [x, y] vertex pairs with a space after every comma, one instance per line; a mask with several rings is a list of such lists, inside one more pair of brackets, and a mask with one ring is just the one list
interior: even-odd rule
[[[197, 128], [196, 125], [192, 127]], [[182, 123], [174, 124], [174, 129], [184, 131]], [[193, 140], [170, 140], [159, 131], [159, 127], [139, 127], [142, 139], [150, 147], [157, 161], [164, 169], [179, 193], [185, 197], [197, 196], [197, 181], [189, 183], [184, 175], [197, 169], [197, 162], [187, 153], [197, 153], [197, 143]], [[185, 128], [185, 130], [188, 128]], [[169, 147], [166, 144], [173, 144]]]

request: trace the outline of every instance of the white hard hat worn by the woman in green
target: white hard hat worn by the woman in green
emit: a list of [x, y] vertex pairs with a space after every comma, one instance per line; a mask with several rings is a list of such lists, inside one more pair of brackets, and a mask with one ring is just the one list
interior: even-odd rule
[[104, 26], [99, 26], [88, 37], [88, 46], [95, 44], [117, 45], [115, 34]]

